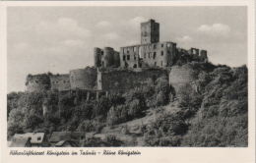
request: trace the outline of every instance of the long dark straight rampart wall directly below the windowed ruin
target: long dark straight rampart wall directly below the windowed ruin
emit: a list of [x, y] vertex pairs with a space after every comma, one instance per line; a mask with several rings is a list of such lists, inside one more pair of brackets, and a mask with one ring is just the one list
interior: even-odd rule
[[[125, 90], [131, 89], [142, 84], [147, 84], [149, 81], [155, 81], [161, 76], [168, 77], [166, 70], [153, 69], [143, 72], [133, 71], [112, 71], [101, 73], [101, 88], [102, 90]], [[99, 77], [99, 76], [98, 76]]]

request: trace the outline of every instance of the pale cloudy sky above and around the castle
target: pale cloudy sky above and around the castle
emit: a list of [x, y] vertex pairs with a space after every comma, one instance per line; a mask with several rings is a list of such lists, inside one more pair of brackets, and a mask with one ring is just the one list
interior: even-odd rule
[[247, 7], [8, 7], [7, 91], [29, 74], [94, 65], [94, 48], [140, 43], [140, 24], [160, 23], [160, 42], [208, 51], [209, 61], [247, 65]]

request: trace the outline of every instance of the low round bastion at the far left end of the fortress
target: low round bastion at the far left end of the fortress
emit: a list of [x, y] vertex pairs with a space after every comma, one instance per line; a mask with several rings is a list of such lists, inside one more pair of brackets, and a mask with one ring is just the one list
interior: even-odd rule
[[27, 91], [42, 91], [50, 89], [50, 79], [48, 75], [29, 75], [26, 81]]

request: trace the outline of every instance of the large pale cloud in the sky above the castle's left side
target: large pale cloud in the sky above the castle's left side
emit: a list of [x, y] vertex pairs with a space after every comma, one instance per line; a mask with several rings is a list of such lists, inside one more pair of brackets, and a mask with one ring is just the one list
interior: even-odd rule
[[80, 27], [78, 22], [69, 18], [60, 18], [57, 22], [41, 21], [36, 33], [47, 38], [89, 37], [91, 31]]

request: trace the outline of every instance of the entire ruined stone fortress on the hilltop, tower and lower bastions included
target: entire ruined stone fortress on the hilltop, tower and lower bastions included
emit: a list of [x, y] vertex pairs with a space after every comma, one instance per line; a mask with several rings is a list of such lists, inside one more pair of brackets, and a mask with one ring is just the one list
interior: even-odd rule
[[[173, 87], [194, 80], [190, 70], [176, 66], [192, 61], [207, 62], [207, 51], [176, 47], [176, 43], [160, 42], [160, 24], [154, 20], [141, 24], [141, 44], [94, 50], [95, 67], [71, 70], [65, 75], [29, 75], [27, 91], [85, 89], [89, 92], [125, 90], [160, 76], [169, 79]], [[108, 71], [104, 68], [117, 68]], [[147, 69], [146, 69], [147, 68]], [[150, 68], [150, 69], [149, 69]]]

